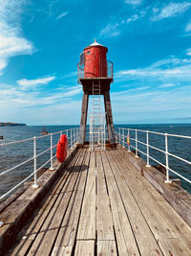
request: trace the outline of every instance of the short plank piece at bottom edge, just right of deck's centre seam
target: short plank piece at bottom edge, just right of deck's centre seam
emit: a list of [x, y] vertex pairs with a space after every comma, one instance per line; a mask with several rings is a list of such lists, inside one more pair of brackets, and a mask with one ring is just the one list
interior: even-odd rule
[[117, 256], [116, 241], [97, 241], [97, 256]]

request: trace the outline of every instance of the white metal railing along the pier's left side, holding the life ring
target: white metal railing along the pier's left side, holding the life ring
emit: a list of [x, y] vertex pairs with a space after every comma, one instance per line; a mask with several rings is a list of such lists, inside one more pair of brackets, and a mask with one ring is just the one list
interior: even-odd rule
[[[13, 141], [13, 142], [9, 142], [9, 143], [3, 143], [0, 144], [0, 150], [1, 148], [5, 148], [5, 147], [9, 147], [11, 145], [15, 145], [15, 144], [22, 144], [24, 142], [32, 142], [33, 144], [33, 155], [32, 157], [30, 157], [29, 159], [9, 168], [8, 170], [0, 173], [0, 176], [3, 175], [7, 175], [9, 174], [11, 171], [33, 161], [33, 172], [31, 175], [28, 175], [25, 179], [23, 179], [21, 182], [19, 182], [18, 184], [16, 184], [13, 188], [11, 188], [11, 190], [9, 190], [8, 192], [6, 192], [5, 194], [0, 196], [0, 200], [3, 198], [8, 197], [16, 188], [18, 188], [19, 186], [21, 186], [22, 184], [24, 184], [26, 182], [26, 180], [30, 179], [33, 176], [33, 188], [38, 188], [38, 184], [37, 184], [37, 172], [42, 169], [43, 167], [47, 166], [48, 163], [51, 162], [50, 164], [50, 170], [53, 170], [53, 159], [55, 158], [56, 154], [53, 155], [53, 149], [57, 146], [57, 143], [55, 145], [53, 145], [53, 136], [59, 134], [60, 136], [62, 134], [66, 134], [67, 138], [69, 140], [69, 147], [68, 149], [72, 149], [74, 147], [74, 144], [78, 141], [78, 137], [79, 137], [79, 128], [71, 128], [71, 129], [66, 129], [66, 130], [60, 130], [57, 132], [53, 132], [53, 133], [49, 133], [47, 135], [42, 135], [42, 136], [38, 136], [38, 137], [33, 137], [30, 139], [24, 139], [24, 140], [19, 140], [19, 141]], [[50, 147], [48, 149], [46, 149], [45, 151], [41, 151], [39, 153], [37, 153], [37, 141], [39, 139], [43, 139], [45, 137], [50, 137]], [[68, 151], [69, 151], [68, 150]], [[48, 161], [46, 161], [45, 163], [43, 163], [39, 168], [37, 168], [37, 159], [39, 156], [43, 155], [44, 153], [50, 151], [50, 158]]]

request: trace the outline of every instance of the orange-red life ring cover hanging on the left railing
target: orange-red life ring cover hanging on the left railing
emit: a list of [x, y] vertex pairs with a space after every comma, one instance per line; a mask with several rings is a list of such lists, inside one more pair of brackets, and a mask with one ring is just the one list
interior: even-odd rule
[[65, 134], [60, 136], [57, 143], [56, 157], [59, 162], [64, 162], [67, 156], [69, 141]]

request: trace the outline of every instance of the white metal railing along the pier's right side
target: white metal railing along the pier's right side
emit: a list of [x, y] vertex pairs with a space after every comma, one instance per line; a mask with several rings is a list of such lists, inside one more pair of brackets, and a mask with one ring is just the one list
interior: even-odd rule
[[[138, 140], [138, 133], [145, 134], [145, 140]], [[163, 137], [164, 140], [164, 150], [159, 149], [158, 147], [155, 147], [153, 145], [149, 144], [149, 134], [155, 134]], [[165, 183], [171, 183], [172, 181], [169, 178], [169, 172], [173, 173], [174, 175], [180, 176], [183, 180], [191, 184], [191, 180], [187, 177], [180, 175], [178, 172], [173, 170], [169, 167], [169, 156], [172, 156], [181, 162], [184, 162], [191, 166], [191, 161], [186, 160], [174, 153], [169, 152], [168, 150], [168, 138], [169, 137], [177, 137], [177, 138], [185, 138], [185, 139], [191, 139], [191, 136], [184, 136], [184, 135], [177, 135], [177, 134], [169, 134], [169, 133], [161, 133], [157, 131], [149, 131], [149, 130], [142, 130], [142, 129], [135, 129], [135, 128], [117, 128], [116, 129], [116, 140], [118, 144], [122, 145], [123, 148], [127, 147], [128, 151], [131, 151], [131, 149], [134, 149], [136, 151], [136, 157], [138, 157], [138, 152], [142, 153], [146, 157], [146, 167], [150, 167], [150, 159], [154, 162], [158, 163], [166, 170], [166, 179]], [[129, 143], [128, 143], [129, 141]], [[131, 142], [134, 142], [134, 145], [132, 145]], [[138, 144], [143, 145], [146, 147], [146, 151], [141, 151], [138, 149]], [[159, 151], [165, 155], [165, 163], [161, 163], [158, 159], [154, 158], [150, 155], [150, 149], [153, 149], [155, 151]]]

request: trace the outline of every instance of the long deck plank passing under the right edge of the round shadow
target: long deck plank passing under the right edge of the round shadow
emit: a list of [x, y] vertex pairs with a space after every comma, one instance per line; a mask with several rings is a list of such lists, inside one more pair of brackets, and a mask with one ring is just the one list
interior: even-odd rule
[[75, 234], [77, 231], [77, 225], [79, 221], [82, 198], [85, 190], [86, 176], [88, 174], [90, 160], [90, 152], [87, 152], [83, 170], [81, 170], [81, 176], [75, 186], [73, 197], [70, 200], [69, 207], [67, 209], [64, 220], [62, 221], [61, 228], [59, 230], [57, 239], [54, 245], [60, 246], [73, 246]]

